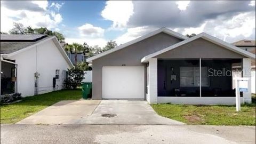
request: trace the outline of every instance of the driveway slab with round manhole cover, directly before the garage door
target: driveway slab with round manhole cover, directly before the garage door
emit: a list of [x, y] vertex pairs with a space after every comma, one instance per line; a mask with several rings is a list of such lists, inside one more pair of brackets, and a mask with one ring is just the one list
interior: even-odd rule
[[[116, 116], [102, 117], [102, 114], [115, 114]], [[146, 101], [102, 100], [92, 115], [83, 117], [75, 124], [183, 125], [184, 123], [159, 116]]]

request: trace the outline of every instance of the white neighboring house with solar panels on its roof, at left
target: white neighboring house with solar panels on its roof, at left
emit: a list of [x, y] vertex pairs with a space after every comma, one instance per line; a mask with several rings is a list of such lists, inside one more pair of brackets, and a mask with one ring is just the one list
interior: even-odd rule
[[16, 91], [26, 97], [61, 90], [72, 67], [55, 36], [1, 35], [1, 95]]

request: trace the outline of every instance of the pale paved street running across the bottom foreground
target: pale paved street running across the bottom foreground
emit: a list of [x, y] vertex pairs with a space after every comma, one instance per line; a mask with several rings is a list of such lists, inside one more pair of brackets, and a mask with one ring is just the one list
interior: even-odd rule
[[5, 143], [255, 143], [255, 126], [1, 125]]

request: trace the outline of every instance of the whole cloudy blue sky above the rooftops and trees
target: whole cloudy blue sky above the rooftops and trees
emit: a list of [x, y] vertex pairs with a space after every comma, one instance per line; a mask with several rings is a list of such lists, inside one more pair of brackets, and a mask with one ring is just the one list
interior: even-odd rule
[[231, 43], [255, 39], [255, 1], [1, 1], [1, 31], [13, 22], [59, 31], [68, 43], [99, 46], [161, 27]]

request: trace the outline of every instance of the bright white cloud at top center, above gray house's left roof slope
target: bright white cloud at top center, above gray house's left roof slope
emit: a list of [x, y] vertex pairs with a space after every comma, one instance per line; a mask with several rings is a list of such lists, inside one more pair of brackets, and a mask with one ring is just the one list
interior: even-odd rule
[[133, 14], [132, 1], [107, 1], [101, 16], [113, 21], [113, 28], [123, 28]]

